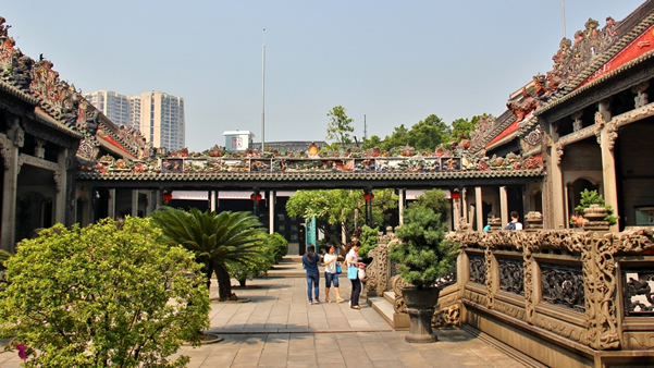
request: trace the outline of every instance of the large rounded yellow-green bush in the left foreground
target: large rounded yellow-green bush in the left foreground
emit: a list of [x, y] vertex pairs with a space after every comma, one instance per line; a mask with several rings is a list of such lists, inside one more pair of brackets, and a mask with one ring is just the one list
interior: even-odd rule
[[200, 344], [209, 295], [195, 256], [148, 219], [57, 224], [7, 260], [0, 329], [30, 367], [182, 367]]

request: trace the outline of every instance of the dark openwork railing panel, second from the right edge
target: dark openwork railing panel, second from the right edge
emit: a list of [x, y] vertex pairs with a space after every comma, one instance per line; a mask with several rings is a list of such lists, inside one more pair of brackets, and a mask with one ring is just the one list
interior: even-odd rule
[[541, 266], [541, 293], [543, 300], [584, 312], [584, 285], [581, 267], [543, 262]]

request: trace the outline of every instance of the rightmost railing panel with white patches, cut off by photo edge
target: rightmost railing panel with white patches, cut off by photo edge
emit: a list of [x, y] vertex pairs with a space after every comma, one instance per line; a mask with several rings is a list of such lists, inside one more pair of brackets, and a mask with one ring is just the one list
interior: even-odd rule
[[625, 316], [654, 317], [654, 268], [624, 269]]

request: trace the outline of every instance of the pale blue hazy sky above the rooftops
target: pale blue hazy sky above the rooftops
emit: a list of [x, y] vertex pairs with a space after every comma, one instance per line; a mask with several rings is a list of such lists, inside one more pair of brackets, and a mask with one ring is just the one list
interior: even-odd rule
[[[642, 0], [567, 0], [568, 38]], [[222, 133], [324, 140], [332, 107], [357, 137], [381, 137], [434, 113], [451, 123], [505, 110], [508, 95], [552, 69], [560, 0], [28, 1], [0, 0], [16, 46], [42, 53], [84, 93], [184, 98], [186, 145]]]

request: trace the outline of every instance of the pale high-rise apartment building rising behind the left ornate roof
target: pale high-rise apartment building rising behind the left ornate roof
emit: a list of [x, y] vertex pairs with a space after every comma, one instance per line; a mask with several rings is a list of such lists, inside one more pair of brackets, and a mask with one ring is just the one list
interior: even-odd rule
[[153, 147], [178, 150], [185, 147], [184, 99], [164, 93], [149, 91], [125, 96], [110, 90], [84, 95], [119, 125], [138, 127]]

